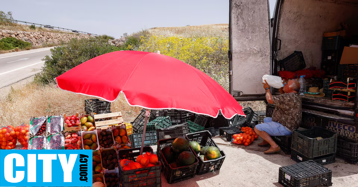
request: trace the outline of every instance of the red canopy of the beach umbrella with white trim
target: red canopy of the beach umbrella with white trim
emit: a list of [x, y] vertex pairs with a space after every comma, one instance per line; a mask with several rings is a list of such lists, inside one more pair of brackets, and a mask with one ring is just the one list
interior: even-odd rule
[[[170, 56], [115, 51], [90, 59], [56, 77], [63, 90], [112, 102], [124, 93], [132, 106], [179, 109], [225, 118], [245, 115], [241, 105], [211, 77]], [[239, 81], [239, 80], [238, 80]]]

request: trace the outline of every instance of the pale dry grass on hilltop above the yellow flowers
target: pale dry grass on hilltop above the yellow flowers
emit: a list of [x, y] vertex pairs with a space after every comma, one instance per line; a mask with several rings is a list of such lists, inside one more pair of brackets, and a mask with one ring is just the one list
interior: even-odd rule
[[229, 25], [217, 24], [181, 27], [156, 27], [149, 29], [149, 33], [158, 36], [179, 36], [184, 38], [190, 38], [192, 36], [216, 36], [229, 38]]

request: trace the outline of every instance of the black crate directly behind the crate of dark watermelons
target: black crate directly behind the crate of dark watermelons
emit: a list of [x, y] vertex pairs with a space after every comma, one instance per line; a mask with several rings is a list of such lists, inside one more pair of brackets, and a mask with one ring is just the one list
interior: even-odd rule
[[189, 124], [183, 123], [175, 126], [171, 126], [168, 128], [156, 129], [157, 139], [168, 139], [174, 138], [178, 136], [185, 137], [185, 134], [189, 133]]

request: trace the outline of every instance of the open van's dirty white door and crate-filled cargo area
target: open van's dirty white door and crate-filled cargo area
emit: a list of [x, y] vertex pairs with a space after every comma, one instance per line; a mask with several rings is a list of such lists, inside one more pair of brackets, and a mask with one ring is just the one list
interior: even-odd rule
[[231, 0], [229, 35], [233, 97], [265, 100], [265, 74], [305, 75], [325, 96], [301, 96], [303, 127], [358, 142], [358, 0], [277, 0], [272, 19], [267, 0]]

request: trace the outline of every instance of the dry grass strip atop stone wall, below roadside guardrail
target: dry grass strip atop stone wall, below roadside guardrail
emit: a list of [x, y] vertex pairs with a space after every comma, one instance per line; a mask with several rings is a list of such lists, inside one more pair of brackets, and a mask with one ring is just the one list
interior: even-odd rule
[[35, 26], [35, 27], [36, 27], [35, 29], [31, 29], [30, 25], [16, 24], [16, 23], [13, 23], [13, 24], [0, 24], [0, 30], [75, 34], [75, 33], [70, 32], [70, 31], [49, 29], [49, 28], [43, 28], [43, 27], [39, 27], [39, 26]]

